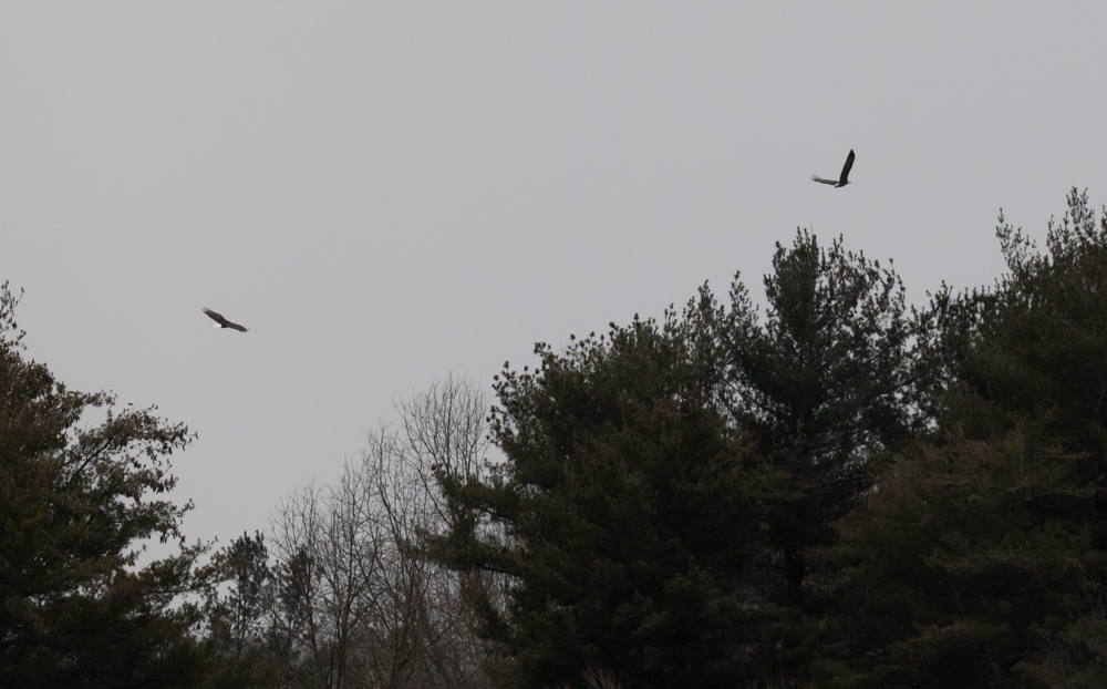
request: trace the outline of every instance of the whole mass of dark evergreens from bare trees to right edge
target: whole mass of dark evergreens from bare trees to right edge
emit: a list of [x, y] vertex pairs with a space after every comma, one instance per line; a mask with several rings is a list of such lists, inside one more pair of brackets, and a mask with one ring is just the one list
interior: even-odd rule
[[800, 230], [736, 278], [495, 384], [490, 474], [433, 543], [507, 577], [510, 686], [1096, 686], [1107, 625], [1107, 224], [909, 308]]

